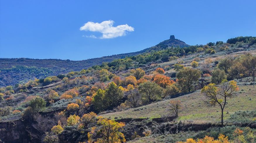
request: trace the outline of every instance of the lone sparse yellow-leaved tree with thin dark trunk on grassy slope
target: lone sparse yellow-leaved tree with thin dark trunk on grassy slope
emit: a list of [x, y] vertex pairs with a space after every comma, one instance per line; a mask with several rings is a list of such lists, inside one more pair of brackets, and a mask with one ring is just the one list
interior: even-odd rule
[[223, 81], [220, 87], [216, 87], [215, 84], [209, 84], [204, 86], [202, 93], [209, 99], [208, 105], [215, 106], [216, 104], [221, 108], [221, 124], [223, 126], [223, 111], [227, 103], [228, 98], [232, 98], [234, 93], [238, 91], [238, 85], [235, 81], [225, 82]]

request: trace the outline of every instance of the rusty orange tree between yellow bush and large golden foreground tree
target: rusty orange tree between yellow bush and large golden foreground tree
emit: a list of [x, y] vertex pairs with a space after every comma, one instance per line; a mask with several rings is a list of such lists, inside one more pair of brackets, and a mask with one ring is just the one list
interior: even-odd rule
[[80, 119], [80, 128], [83, 129], [83, 131], [85, 132], [87, 129], [87, 126], [90, 123], [93, 123], [94, 121], [96, 121], [96, 117], [97, 117], [97, 114], [94, 112], [84, 114]]

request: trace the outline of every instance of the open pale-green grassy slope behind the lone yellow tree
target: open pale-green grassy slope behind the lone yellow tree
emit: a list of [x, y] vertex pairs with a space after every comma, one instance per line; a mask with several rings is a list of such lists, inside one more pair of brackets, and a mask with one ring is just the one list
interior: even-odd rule
[[[251, 89], [251, 90], [249, 90]], [[243, 91], [242, 91], [243, 90]], [[251, 100], [249, 100], [251, 99]], [[221, 112], [218, 106], [207, 107], [204, 103], [206, 98], [200, 91], [196, 91], [191, 94], [186, 94], [174, 98], [172, 100], [181, 100], [184, 104], [184, 110], [181, 112], [180, 117], [177, 120], [181, 121], [193, 121], [194, 123], [211, 122], [216, 123], [220, 121]], [[122, 112], [113, 112], [102, 114], [103, 117], [114, 119], [120, 118], [159, 118], [162, 115], [169, 114], [168, 103], [170, 100], [164, 100], [136, 109], [129, 109]], [[240, 86], [239, 92], [232, 99], [228, 99], [228, 104], [224, 110], [224, 120], [229, 117], [230, 113], [239, 110], [255, 110], [256, 109], [256, 88], [255, 85]], [[227, 111], [229, 113], [227, 113]]]

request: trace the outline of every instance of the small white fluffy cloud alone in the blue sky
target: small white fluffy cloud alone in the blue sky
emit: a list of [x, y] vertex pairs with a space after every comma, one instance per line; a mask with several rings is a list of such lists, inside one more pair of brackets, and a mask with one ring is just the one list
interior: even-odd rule
[[[134, 28], [129, 26], [128, 24], [125, 25], [118, 25], [117, 27], [113, 27], [114, 21], [103, 21], [101, 23], [94, 23], [94, 22], [87, 22], [82, 27], [80, 27], [80, 30], [84, 31], [91, 31], [91, 32], [100, 32], [102, 33], [102, 36], [99, 37], [100, 39], [110, 39], [110, 38], [116, 38], [120, 36], [124, 36], [126, 32], [134, 31]], [[86, 36], [89, 38], [97, 38], [94, 35]]]

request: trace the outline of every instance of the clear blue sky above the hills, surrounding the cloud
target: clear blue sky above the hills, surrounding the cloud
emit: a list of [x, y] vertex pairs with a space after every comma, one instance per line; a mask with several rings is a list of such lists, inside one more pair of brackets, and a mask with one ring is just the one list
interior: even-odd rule
[[[0, 0], [0, 57], [82, 60], [139, 51], [170, 35], [189, 45], [256, 36], [255, 6], [255, 0]], [[110, 25], [97, 29], [103, 21]]]

